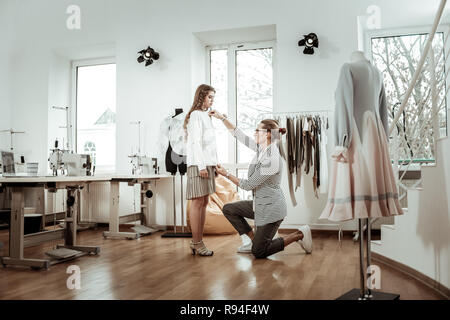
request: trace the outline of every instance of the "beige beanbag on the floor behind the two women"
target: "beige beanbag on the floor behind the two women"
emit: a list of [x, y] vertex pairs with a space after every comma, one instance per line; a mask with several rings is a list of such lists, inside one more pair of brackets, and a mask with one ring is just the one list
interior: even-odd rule
[[[209, 196], [209, 203], [206, 208], [204, 234], [235, 234], [237, 231], [222, 213], [222, 208], [229, 202], [239, 201], [239, 194], [236, 186], [228, 179], [216, 177], [216, 192]], [[190, 206], [191, 200], [187, 202], [187, 224], [190, 227]]]

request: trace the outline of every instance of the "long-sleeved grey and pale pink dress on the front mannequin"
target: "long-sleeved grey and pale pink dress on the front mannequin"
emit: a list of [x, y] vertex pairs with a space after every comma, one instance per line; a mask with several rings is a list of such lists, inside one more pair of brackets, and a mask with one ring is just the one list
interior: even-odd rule
[[320, 218], [346, 221], [403, 214], [387, 145], [381, 74], [368, 60], [344, 64], [335, 98], [336, 147]]

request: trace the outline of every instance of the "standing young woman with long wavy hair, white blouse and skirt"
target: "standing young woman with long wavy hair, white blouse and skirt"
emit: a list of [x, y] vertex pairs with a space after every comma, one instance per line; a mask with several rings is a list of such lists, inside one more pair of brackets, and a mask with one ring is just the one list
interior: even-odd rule
[[187, 190], [186, 198], [192, 200], [189, 210], [192, 254], [212, 256], [203, 243], [206, 206], [209, 195], [216, 191], [215, 167], [217, 165], [216, 135], [208, 110], [214, 102], [213, 87], [202, 84], [197, 88], [194, 103], [184, 120], [187, 134]]

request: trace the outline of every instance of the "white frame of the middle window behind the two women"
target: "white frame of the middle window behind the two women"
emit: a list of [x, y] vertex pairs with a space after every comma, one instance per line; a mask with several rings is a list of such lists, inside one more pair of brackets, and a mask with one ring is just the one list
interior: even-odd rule
[[[276, 78], [277, 74], [277, 46], [276, 40], [268, 41], [256, 41], [256, 42], [236, 42], [230, 44], [206, 46], [206, 79], [207, 83], [211, 84], [211, 51], [227, 49], [227, 67], [228, 67], [228, 119], [236, 124], [237, 123], [237, 74], [236, 74], [236, 52], [241, 50], [255, 50], [255, 49], [272, 49], [272, 74], [273, 74], [273, 106], [276, 101]], [[237, 148], [238, 144], [236, 139], [228, 140], [228, 160], [224, 165], [238, 173], [238, 169], [248, 169], [249, 163], [237, 162]]]

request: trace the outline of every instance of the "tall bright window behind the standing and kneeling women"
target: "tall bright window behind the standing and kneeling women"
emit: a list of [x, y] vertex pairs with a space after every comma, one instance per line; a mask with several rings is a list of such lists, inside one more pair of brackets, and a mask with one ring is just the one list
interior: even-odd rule
[[[264, 113], [273, 110], [274, 43], [233, 44], [207, 50], [209, 79], [216, 89], [214, 108], [253, 137]], [[215, 127], [217, 145], [225, 146], [218, 148], [219, 162], [227, 164], [238, 176], [246, 176], [242, 168], [247, 168], [253, 151], [236, 143], [218, 121]]]

